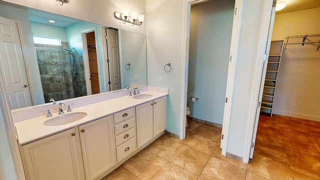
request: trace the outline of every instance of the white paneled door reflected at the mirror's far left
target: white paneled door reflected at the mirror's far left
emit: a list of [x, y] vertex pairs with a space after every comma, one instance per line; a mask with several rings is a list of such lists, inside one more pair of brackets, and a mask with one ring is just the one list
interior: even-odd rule
[[0, 17], [0, 64], [11, 109], [32, 105], [22, 49], [13, 20]]

